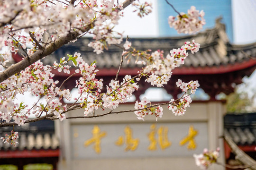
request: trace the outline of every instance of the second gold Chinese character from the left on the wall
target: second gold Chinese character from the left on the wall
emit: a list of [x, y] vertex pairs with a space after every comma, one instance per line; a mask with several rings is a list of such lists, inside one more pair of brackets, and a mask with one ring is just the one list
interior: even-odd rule
[[124, 129], [125, 132], [125, 140], [123, 136], [119, 136], [118, 140], [116, 141], [116, 145], [121, 146], [122, 144], [126, 144], [125, 151], [135, 151], [139, 144], [139, 139], [133, 139], [132, 137], [132, 129], [129, 126], [126, 126]]

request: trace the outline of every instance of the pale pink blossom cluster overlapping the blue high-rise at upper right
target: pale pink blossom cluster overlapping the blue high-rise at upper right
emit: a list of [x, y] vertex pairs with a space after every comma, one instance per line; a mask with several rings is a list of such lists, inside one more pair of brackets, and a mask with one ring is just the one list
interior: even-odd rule
[[[194, 6], [188, 9], [188, 13], [180, 13], [177, 15], [177, 20], [174, 16], [168, 18], [170, 27], [174, 27], [177, 32], [184, 34], [194, 34], [202, 29], [205, 25], [204, 12], [196, 10]], [[201, 18], [201, 19], [200, 19]]]

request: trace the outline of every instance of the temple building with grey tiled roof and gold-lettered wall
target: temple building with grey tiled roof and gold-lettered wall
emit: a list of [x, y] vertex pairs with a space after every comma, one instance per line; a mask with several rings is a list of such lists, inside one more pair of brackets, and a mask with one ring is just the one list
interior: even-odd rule
[[[28, 149], [29, 152], [34, 148], [40, 152], [55, 152], [59, 159], [59, 170], [72, 169], [104, 169], [104, 170], [198, 170], [195, 165], [193, 154], [202, 153], [204, 148], [215, 150], [220, 147], [221, 163], [232, 159], [232, 154], [225, 146], [220, 136], [224, 134], [234, 134], [240, 132], [250, 134], [250, 144], [255, 144], [256, 134], [251, 128], [235, 129], [230, 122], [225, 119], [225, 128], [223, 116], [225, 111], [225, 101], [216, 99], [219, 93], [229, 94], [234, 92], [236, 85], [242, 83], [244, 76], [250, 76], [256, 69], [256, 43], [246, 45], [232, 45], [229, 42], [225, 32], [225, 25], [217, 20], [214, 28], [207, 29], [204, 32], [179, 36], [174, 38], [131, 38], [133, 47], [137, 50], [152, 51], [163, 50], [165, 55], [173, 48], [180, 48], [184, 42], [195, 40], [201, 44], [200, 51], [189, 54], [185, 59], [185, 64], [180, 68], [173, 70], [173, 75], [167, 85], [164, 85], [165, 93], [178, 98], [180, 89], [175, 85], [180, 78], [183, 82], [198, 80], [201, 91], [208, 96], [208, 100], [193, 100], [184, 116], [174, 116], [167, 106], [164, 106], [164, 115], [155, 121], [155, 117], [148, 116], [145, 121], [138, 120], [134, 112], [119, 113], [107, 115], [98, 118], [85, 119], [65, 119], [64, 121], [55, 121], [55, 137], [58, 143], [48, 142], [47, 147], [40, 142], [46, 141], [46, 132], [36, 140], [35, 147]], [[118, 71], [122, 49], [116, 46], [110, 46], [108, 51], [100, 55], [92, 52], [88, 43], [93, 41], [91, 38], [82, 37], [74, 43], [65, 45], [43, 59], [45, 64], [52, 65], [55, 60], [67, 54], [73, 54], [76, 51], [81, 52], [81, 56], [87, 63], [97, 61], [96, 78], [103, 78], [103, 84], [109, 85], [111, 79], [114, 79]], [[16, 54], [13, 59], [18, 62], [22, 58]], [[123, 68], [119, 73], [119, 80], [126, 75], [135, 76], [141, 66], [135, 64], [134, 58], [127, 63], [123, 62]], [[71, 74], [74, 68], [71, 68]], [[55, 79], [64, 81], [69, 75], [59, 73], [54, 70]], [[64, 88], [73, 89], [75, 80], [80, 75], [75, 74], [69, 78]], [[143, 79], [138, 82], [139, 89], [134, 93], [135, 100], [140, 100], [140, 96], [152, 85], [146, 83]], [[103, 89], [104, 91], [105, 89]], [[151, 94], [158, 95], [156, 94]], [[165, 102], [165, 101], [161, 101]], [[154, 102], [155, 103], [155, 102]], [[116, 110], [133, 110], [134, 102], [120, 104]], [[107, 113], [109, 110], [97, 110], [96, 115]], [[83, 116], [83, 110], [73, 110], [66, 113], [66, 117]], [[226, 121], [227, 120], [227, 121]], [[236, 133], [233, 133], [235, 131]], [[250, 133], [247, 133], [247, 132]], [[40, 133], [38, 133], [40, 134]], [[36, 135], [36, 134], [35, 134]], [[25, 135], [28, 140], [28, 135]], [[42, 137], [44, 136], [44, 137]], [[53, 135], [50, 135], [52, 141]], [[39, 138], [34, 136], [34, 138]], [[236, 137], [235, 137], [236, 138]], [[21, 140], [21, 138], [20, 138]], [[241, 138], [241, 140], [244, 140]], [[251, 140], [254, 140], [253, 142]], [[238, 140], [237, 140], [238, 141]], [[41, 144], [37, 144], [37, 142]], [[239, 138], [240, 142], [240, 138]], [[240, 144], [238, 142], [238, 144]], [[55, 145], [54, 148], [50, 145]], [[241, 144], [247, 144], [246, 142]], [[248, 143], [249, 144], [249, 143]], [[38, 148], [37, 149], [37, 145]], [[40, 147], [39, 147], [40, 146]], [[19, 147], [19, 146], [18, 146]], [[3, 146], [0, 153], [15, 153], [17, 149]], [[27, 151], [26, 147], [21, 147], [19, 152]], [[47, 150], [47, 151], [45, 151]], [[59, 154], [60, 151], [60, 154]], [[225, 151], [225, 152], [224, 152]], [[36, 151], [35, 151], [36, 152]], [[3, 154], [4, 155], [4, 154]], [[16, 155], [16, 153], [14, 154]], [[18, 154], [17, 154], [18, 155]], [[22, 157], [18, 155], [16, 158]], [[42, 156], [43, 157], [43, 156]], [[1, 157], [0, 160], [4, 159]], [[52, 161], [51, 159], [46, 162]], [[186, 162], [186, 163], [184, 163]], [[213, 165], [211, 170], [224, 170], [219, 165]]]

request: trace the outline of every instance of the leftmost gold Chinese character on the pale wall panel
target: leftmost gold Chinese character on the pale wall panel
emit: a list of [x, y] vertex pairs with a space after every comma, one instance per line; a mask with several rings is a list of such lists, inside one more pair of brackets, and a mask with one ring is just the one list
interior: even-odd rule
[[88, 145], [94, 143], [94, 151], [96, 153], [101, 153], [101, 138], [106, 136], [106, 132], [101, 132], [99, 126], [95, 125], [91, 131], [92, 138], [88, 139], [84, 142], [84, 146], [87, 147]]

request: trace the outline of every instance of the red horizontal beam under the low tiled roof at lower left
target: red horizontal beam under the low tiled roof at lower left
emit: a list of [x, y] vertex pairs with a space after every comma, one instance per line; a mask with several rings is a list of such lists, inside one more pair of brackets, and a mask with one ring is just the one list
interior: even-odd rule
[[40, 157], [59, 157], [59, 155], [60, 155], [59, 149], [0, 151], [0, 158], [40, 158]]

